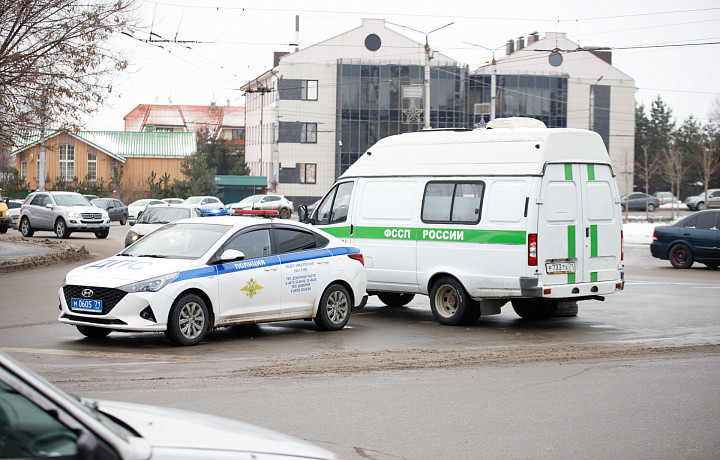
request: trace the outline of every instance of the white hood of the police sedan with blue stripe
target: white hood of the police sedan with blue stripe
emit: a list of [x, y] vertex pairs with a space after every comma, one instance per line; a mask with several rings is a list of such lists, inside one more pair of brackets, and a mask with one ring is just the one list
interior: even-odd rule
[[113, 256], [78, 267], [67, 274], [67, 284], [118, 287], [173, 272], [197, 268], [197, 259], [157, 259]]

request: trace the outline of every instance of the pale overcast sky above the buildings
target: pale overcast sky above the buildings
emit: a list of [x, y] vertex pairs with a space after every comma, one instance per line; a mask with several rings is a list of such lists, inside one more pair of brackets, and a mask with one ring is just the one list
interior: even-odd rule
[[[364, 2], [275, 0], [141, 0], [146, 26], [136, 39], [122, 35], [113, 46], [124, 50], [129, 71], [114, 83], [108, 107], [87, 121], [90, 130], [122, 130], [123, 117], [138, 104], [244, 106], [239, 89], [272, 66], [274, 51], [293, 51], [295, 16], [300, 16], [300, 48], [361, 25], [362, 18], [385, 19], [418, 42], [470, 70], [491, 59], [485, 48], [531, 32], [565, 32], [580, 46], [615, 49], [613, 65], [635, 80], [636, 100], [649, 108], [660, 95], [678, 123], [691, 114], [707, 121], [720, 98], [720, 3], [717, 0], [536, 0], [476, 2], [395, 0]], [[198, 43], [156, 43], [150, 38]], [[472, 46], [467, 43], [478, 46]], [[162, 47], [160, 47], [162, 46]], [[186, 47], [189, 47], [186, 48]], [[650, 47], [653, 46], [653, 47]], [[643, 48], [641, 48], [643, 47]]]

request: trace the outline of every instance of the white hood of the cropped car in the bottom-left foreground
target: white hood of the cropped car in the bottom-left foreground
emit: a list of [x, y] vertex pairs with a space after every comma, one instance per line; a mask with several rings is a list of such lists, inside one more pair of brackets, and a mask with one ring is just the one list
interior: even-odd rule
[[[152, 458], [163, 448], [196, 450], [197, 458], [212, 458], [213, 453], [222, 451], [337, 458], [305, 441], [212, 415], [116, 401], [98, 401], [98, 409], [137, 431], [152, 447]], [[206, 454], [203, 449], [207, 449]]]

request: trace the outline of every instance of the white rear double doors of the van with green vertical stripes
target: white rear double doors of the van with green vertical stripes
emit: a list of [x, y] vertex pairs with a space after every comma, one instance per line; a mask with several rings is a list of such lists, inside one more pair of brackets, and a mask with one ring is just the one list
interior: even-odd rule
[[538, 211], [543, 285], [620, 279], [622, 222], [608, 165], [548, 164]]

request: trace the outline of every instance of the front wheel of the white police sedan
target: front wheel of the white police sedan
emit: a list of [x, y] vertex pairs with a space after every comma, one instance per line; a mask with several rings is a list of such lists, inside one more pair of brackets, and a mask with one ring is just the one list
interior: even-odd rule
[[196, 345], [205, 338], [208, 327], [205, 302], [195, 294], [186, 294], [170, 309], [165, 335], [175, 345]]

